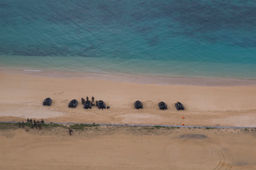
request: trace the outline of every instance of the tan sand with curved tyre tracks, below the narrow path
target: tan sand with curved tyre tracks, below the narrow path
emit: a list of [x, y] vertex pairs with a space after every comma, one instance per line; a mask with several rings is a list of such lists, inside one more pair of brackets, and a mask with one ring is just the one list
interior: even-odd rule
[[0, 169], [256, 168], [256, 129], [25, 129], [0, 131]]

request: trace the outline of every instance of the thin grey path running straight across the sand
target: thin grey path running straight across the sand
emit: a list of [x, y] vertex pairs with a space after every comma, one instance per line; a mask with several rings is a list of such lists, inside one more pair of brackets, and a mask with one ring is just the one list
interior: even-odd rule
[[[0, 123], [18, 123], [18, 122], [4, 122], [0, 121]], [[50, 123], [50, 122], [44, 122], [44, 123]], [[60, 122], [52, 122], [56, 124], [68, 124], [68, 123], [60, 123]], [[71, 123], [70, 123], [71, 124]], [[72, 124], [87, 124], [87, 125], [93, 125], [93, 123], [72, 123]], [[253, 129], [256, 127], [235, 127], [235, 126], [182, 126], [182, 125], [138, 125], [138, 124], [102, 124], [102, 123], [95, 123], [95, 125], [102, 125], [102, 126], [162, 126], [162, 127], [190, 127], [190, 128], [223, 128], [223, 129]]]

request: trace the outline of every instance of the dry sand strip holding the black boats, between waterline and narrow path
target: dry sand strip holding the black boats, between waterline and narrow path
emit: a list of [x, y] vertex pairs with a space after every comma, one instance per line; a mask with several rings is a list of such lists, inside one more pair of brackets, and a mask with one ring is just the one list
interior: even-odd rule
[[[256, 86], [189, 86], [124, 83], [98, 79], [50, 78], [0, 73], [0, 121], [254, 127]], [[84, 109], [94, 96], [110, 109]], [[45, 98], [51, 106], [43, 106]], [[76, 108], [68, 103], [76, 99]], [[136, 110], [140, 100], [143, 109]], [[160, 110], [159, 102], [167, 104]], [[177, 110], [180, 101], [185, 110]], [[185, 117], [185, 119], [182, 119]]]

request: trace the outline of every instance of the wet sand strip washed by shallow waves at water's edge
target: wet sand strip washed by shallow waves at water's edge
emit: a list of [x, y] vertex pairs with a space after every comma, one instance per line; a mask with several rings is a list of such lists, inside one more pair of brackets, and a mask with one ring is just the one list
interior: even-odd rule
[[253, 79], [211, 79], [196, 77], [166, 77], [148, 75], [125, 75], [93, 72], [65, 72], [65, 71], [38, 71], [38, 70], [4, 70], [0, 73], [25, 74], [51, 78], [76, 78], [109, 80], [124, 83], [157, 84], [157, 85], [192, 85], [192, 86], [256, 86]]

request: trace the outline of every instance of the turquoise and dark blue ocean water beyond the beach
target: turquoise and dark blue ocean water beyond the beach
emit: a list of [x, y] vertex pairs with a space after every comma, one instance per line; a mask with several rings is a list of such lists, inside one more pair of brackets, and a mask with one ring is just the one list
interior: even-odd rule
[[0, 1], [0, 69], [256, 80], [255, 1]]

